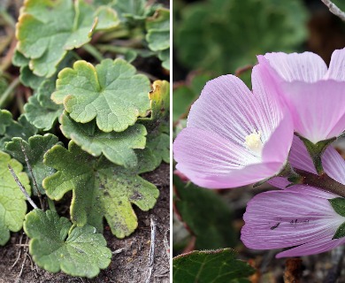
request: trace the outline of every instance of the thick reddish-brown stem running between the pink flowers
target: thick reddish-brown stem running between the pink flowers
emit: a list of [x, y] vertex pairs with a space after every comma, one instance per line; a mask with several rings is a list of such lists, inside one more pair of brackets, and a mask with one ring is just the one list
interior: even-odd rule
[[295, 172], [303, 177], [302, 184], [312, 187], [318, 187], [336, 195], [345, 197], [345, 185], [342, 185], [336, 180], [333, 180], [326, 173], [323, 173], [322, 175], [316, 175], [311, 172], [306, 172], [299, 169], [295, 169]]

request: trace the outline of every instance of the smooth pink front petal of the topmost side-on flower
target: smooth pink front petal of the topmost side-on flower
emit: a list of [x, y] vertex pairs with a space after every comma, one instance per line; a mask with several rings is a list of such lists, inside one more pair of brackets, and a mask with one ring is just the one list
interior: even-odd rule
[[344, 84], [334, 80], [281, 83], [295, 131], [311, 142], [339, 136], [345, 130]]

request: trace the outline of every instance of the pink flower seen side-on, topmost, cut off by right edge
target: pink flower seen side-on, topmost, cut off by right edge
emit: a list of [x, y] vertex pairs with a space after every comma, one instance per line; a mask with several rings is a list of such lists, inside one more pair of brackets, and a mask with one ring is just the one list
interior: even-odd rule
[[313, 143], [345, 130], [345, 49], [326, 63], [311, 52], [267, 53], [259, 65], [271, 73], [294, 119], [295, 132]]

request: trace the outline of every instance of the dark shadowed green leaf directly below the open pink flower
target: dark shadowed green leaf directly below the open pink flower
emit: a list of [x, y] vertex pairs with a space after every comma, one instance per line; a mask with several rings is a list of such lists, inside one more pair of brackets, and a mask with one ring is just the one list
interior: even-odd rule
[[224, 200], [212, 190], [185, 184], [177, 176], [173, 176], [173, 184], [176, 210], [196, 236], [196, 249], [234, 247], [233, 213]]

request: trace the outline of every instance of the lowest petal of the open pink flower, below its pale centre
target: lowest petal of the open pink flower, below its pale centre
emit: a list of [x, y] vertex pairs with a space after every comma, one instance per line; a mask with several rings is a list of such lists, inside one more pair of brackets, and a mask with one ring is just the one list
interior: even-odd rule
[[245, 150], [218, 134], [190, 127], [173, 143], [176, 168], [196, 185], [209, 188], [248, 185], [280, 170], [280, 163], [254, 164]]

